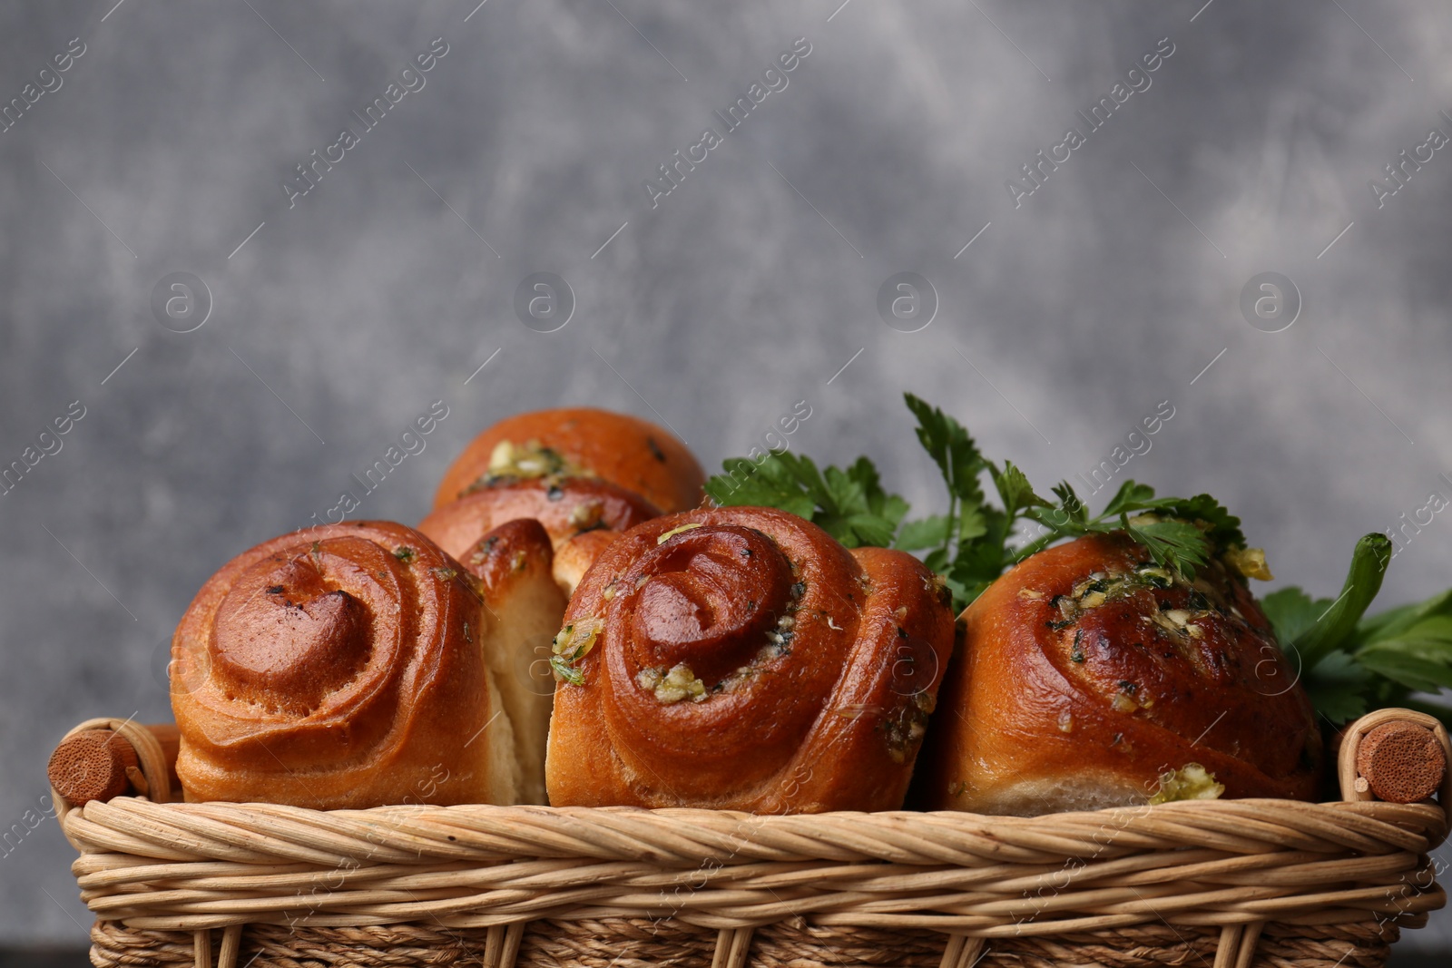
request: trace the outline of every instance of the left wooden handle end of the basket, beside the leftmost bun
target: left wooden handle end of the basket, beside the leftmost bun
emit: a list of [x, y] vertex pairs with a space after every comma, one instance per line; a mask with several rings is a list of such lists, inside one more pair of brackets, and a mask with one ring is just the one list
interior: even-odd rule
[[105, 803], [121, 795], [155, 803], [179, 800], [180, 742], [171, 723], [86, 720], [61, 739], [45, 769], [57, 810], [65, 813], [91, 800]]

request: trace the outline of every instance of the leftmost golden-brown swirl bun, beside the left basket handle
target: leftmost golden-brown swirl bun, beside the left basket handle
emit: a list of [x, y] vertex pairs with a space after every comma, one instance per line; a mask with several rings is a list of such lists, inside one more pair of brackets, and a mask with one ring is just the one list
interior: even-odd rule
[[187, 800], [515, 803], [518, 750], [486, 662], [507, 646], [498, 633], [479, 582], [401, 524], [240, 554], [171, 643]]

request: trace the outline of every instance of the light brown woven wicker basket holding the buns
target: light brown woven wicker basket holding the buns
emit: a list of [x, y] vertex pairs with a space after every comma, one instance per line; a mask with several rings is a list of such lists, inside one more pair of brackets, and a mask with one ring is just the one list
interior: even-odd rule
[[[1192, 801], [1037, 819], [706, 810], [164, 803], [170, 763], [118, 720], [152, 798], [57, 795], [91, 961], [302, 965], [1381, 965], [1442, 907], [1439, 803]], [[68, 734], [70, 736], [70, 734]], [[1436, 747], [1432, 746], [1435, 750]]]

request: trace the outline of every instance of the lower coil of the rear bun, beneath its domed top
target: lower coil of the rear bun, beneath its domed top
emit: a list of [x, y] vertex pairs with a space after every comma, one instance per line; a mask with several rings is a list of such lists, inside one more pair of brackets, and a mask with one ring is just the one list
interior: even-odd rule
[[430, 512], [418, 530], [463, 559], [498, 525], [533, 518], [556, 549], [555, 579], [568, 596], [610, 538], [659, 514], [640, 495], [600, 479], [501, 479]]

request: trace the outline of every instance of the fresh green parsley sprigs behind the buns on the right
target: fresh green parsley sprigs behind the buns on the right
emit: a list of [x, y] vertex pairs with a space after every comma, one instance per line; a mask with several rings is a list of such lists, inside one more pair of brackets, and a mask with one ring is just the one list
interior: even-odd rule
[[[1090, 515], [1067, 480], [1050, 489], [1057, 501], [1048, 501], [1012, 462], [984, 457], [953, 417], [912, 393], [905, 399], [918, 419], [918, 440], [942, 475], [947, 514], [908, 520], [908, 502], [883, 489], [867, 457], [845, 470], [820, 472], [812, 459], [788, 453], [770, 454], [761, 463], [733, 459], [723, 464], [726, 475], [707, 480], [706, 492], [722, 505], [791, 511], [848, 547], [925, 553], [923, 563], [951, 589], [954, 610], [966, 608], [1029, 554], [1064, 538], [1111, 531], [1124, 531], [1144, 546], [1154, 566], [1140, 570], [1149, 569], [1151, 579], [1163, 576], [1151, 581], [1159, 588], [1167, 588], [1175, 575], [1194, 579], [1212, 559], [1246, 578], [1270, 579], [1260, 549], [1246, 547], [1240, 518], [1210, 495], [1159, 498], [1149, 485], [1125, 480], [1104, 509]], [[996, 502], [984, 489], [984, 475]], [[1019, 525], [1025, 521], [1043, 533], [1024, 540]], [[1452, 710], [1411, 698], [1452, 688], [1452, 589], [1365, 617], [1390, 563], [1390, 538], [1368, 534], [1356, 543], [1337, 598], [1313, 599], [1292, 586], [1266, 595], [1260, 607], [1317, 711], [1333, 724], [1371, 708], [1401, 705], [1452, 727]], [[1077, 640], [1070, 657], [1083, 660]]]

